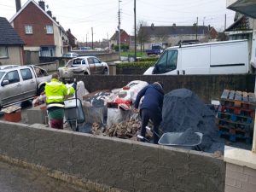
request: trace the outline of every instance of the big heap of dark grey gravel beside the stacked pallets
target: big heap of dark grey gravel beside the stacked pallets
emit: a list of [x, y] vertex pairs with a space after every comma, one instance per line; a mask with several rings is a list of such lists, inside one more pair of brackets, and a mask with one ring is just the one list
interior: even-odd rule
[[[201, 99], [191, 90], [172, 90], [164, 97], [163, 120], [161, 129], [164, 132], [183, 132], [189, 130], [183, 137], [183, 143], [194, 141], [194, 133], [201, 132], [203, 138], [201, 149], [214, 152], [219, 148], [212, 148], [212, 143], [218, 140], [215, 115]], [[215, 145], [216, 146], [216, 145]], [[220, 144], [221, 147], [224, 144]]]

